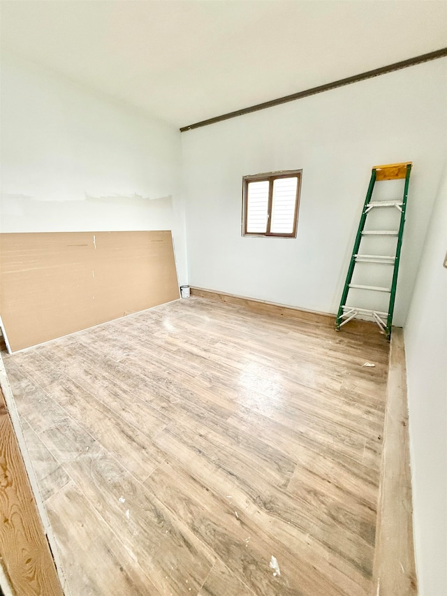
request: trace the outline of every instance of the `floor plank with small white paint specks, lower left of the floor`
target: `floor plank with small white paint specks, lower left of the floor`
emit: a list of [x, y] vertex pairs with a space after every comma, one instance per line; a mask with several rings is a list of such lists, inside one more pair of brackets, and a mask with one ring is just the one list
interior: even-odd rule
[[165, 504], [71, 419], [41, 437], [161, 594], [198, 592], [214, 555]]

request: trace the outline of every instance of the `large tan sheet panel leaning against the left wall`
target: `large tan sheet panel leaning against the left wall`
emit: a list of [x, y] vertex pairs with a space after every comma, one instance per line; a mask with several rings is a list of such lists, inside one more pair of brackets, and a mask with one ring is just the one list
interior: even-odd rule
[[12, 351], [179, 298], [170, 231], [10, 233], [0, 249]]

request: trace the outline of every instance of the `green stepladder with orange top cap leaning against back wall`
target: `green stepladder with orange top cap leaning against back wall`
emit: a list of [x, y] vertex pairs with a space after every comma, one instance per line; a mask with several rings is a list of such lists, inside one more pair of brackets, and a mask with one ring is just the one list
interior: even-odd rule
[[[391, 337], [391, 324], [393, 323], [393, 310], [396, 298], [397, 287], [397, 273], [399, 272], [400, 251], [402, 249], [402, 235], [404, 234], [405, 211], [406, 211], [406, 197], [408, 195], [408, 187], [410, 182], [411, 161], [404, 163], [390, 163], [387, 166], [374, 166], [372, 168], [371, 180], [369, 180], [369, 187], [363, 205], [362, 217], [360, 217], [360, 224], [358, 224], [358, 231], [356, 235], [356, 242], [349, 263], [348, 274], [346, 275], [346, 282], [342, 293], [342, 300], [340, 300], [340, 307], [335, 321], [335, 329], [339, 331], [340, 327], [355, 319], [357, 315], [360, 317], [372, 317], [373, 321], [381, 328], [382, 333], [386, 335], [387, 340]], [[372, 191], [374, 184], [381, 180], [399, 180], [405, 179], [404, 196], [401, 201], [372, 201]], [[400, 211], [400, 225], [398, 230], [365, 230], [365, 222], [367, 215], [374, 209], [381, 208], [397, 208]], [[397, 246], [393, 256], [385, 256], [380, 254], [360, 254], [360, 242], [366, 236], [395, 236], [397, 238]], [[383, 266], [393, 265], [393, 281], [390, 288], [383, 288], [378, 286], [366, 286], [361, 284], [353, 284], [353, 273], [358, 263], [379, 263]], [[372, 310], [361, 307], [349, 306], [346, 304], [350, 289], [365, 290], [372, 292], [386, 292], [390, 294], [390, 302], [388, 303], [388, 312], [380, 310]]]

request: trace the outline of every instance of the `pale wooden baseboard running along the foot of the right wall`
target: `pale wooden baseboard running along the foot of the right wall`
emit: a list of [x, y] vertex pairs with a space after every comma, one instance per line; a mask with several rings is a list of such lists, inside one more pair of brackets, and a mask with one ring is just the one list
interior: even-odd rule
[[383, 428], [374, 596], [416, 596], [404, 334], [393, 328]]

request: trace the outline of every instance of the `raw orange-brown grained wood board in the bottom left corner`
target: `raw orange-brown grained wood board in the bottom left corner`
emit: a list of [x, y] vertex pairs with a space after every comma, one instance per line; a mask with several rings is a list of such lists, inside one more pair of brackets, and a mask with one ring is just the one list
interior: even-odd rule
[[0, 564], [15, 594], [62, 595], [1, 390]]

